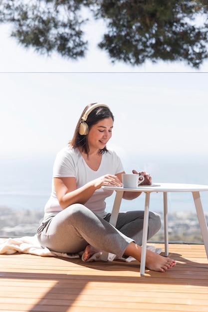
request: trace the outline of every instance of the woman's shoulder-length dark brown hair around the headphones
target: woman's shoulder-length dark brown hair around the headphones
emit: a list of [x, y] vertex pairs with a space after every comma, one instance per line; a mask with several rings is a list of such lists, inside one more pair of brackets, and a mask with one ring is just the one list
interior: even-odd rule
[[[88, 108], [90, 108], [94, 104], [97, 104], [97, 103], [92, 103], [85, 107], [76, 125], [73, 138], [71, 141], [69, 141], [69, 147], [72, 147], [73, 149], [81, 148], [82, 152], [86, 153], [87, 156], [89, 153], [88, 135], [80, 135], [79, 126], [80, 126], [80, 122], [82, 120], [82, 116], [84, 115], [84, 113], [87, 111]], [[90, 128], [93, 125], [97, 124], [100, 120], [109, 118], [109, 117], [112, 118], [112, 120], [114, 121], [114, 116], [109, 110], [109, 108], [101, 105], [99, 107], [96, 107], [94, 110], [90, 112], [85, 123], [88, 125], [88, 128], [90, 130]], [[104, 147], [104, 149], [102, 150], [99, 150], [99, 154], [104, 154], [105, 152], [108, 152], [106, 147]]]

